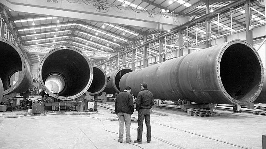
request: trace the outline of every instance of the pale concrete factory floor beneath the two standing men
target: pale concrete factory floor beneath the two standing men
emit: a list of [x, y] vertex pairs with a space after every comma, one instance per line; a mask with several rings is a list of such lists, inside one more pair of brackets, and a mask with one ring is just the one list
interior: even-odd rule
[[[266, 116], [215, 110], [210, 117], [187, 116], [181, 110], [156, 108], [151, 114], [151, 143], [119, 143], [118, 121], [111, 102], [98, 103], [98, 112], [0, 112], [1, 149], [235, 149], [262, 148]], [[137, 118], [137, 111], [132, 117]], [[145, 126], [145, 124], [144, 124]], [[131, 139], [138, 123], [131, 123]], [[146, 129], [144, 129], [146, 132]], [[125, 134], [124, 134], [125, 136]], [[124, 138], [125, 140], [125, 138]]]

